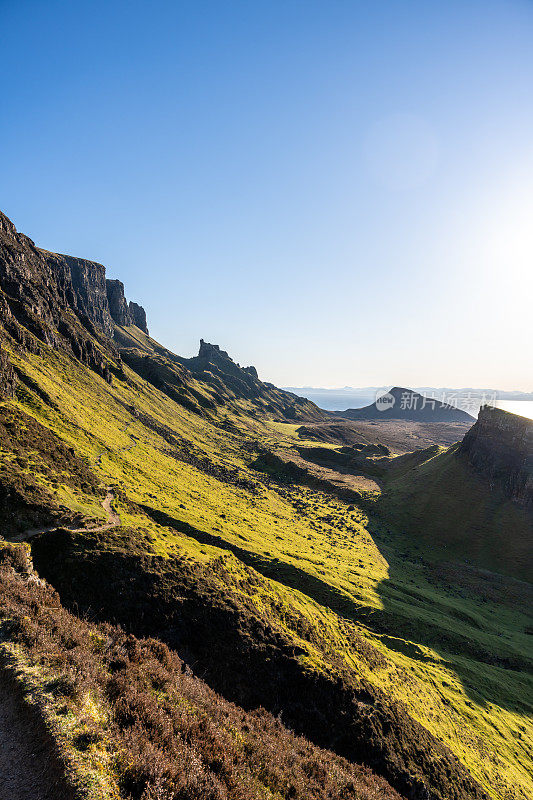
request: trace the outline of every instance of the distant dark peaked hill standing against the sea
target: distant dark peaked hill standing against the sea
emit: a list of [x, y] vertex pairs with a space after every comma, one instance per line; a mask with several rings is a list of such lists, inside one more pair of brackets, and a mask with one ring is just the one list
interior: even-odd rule
[[466, 411], [440, 400], [424, 397], [413, 389], [395, 386], [369, 406], [333, 411], [346, 419], [403, 419], [415, 422], [473, 422]]

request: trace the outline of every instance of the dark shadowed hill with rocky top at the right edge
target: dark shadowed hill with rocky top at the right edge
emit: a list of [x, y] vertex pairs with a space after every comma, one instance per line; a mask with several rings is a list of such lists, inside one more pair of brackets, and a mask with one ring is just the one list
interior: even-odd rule
[[463, 441], [395, 459], [378, 506], [434, 556], [531, 580], [533, 422], [485, 407]]

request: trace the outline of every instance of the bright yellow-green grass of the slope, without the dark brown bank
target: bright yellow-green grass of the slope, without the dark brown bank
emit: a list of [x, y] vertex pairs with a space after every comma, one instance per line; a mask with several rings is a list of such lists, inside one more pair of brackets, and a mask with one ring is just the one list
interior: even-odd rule
[[[318, 646], [298, 642], [309, 669], [329, 669], [327, 641], [355, 676], [404, 703], [489, 795], [533, 796], [525, 586], [504, 581], [493, 596], [459, 567], [456, 585], [436, 580], [401, 529], [323, 492], [262, 480], [250, 469], [254, 442], [283, 446], [295, 428], [254, 418], [245, 402], [219, 410], [213, 424], [128, 368], [127, 380], [110, 386], [49, 350], [11, 358], [53, 404], [25, 390], [9, 405], [57, 434], [100, 481], [56, 487], [41, 475], [61, 504], [102, 517], [103, 487], [113, 485], [123, 525], [137, 532], [140, 548], [145, 541], [159, 556], [204, 565], [223, 557], [236, 578], [242, 562], [252, 566], [268, 582], [271, 607], [288, 605], [320, 630]], [[187, 463], [147, 418], [205, 459], [203, 468]], [[236, 471], [253, 489], [211, 474], [206, 463]], [[156, 521], [165, 519], [158, 513], [167, 524]], [[110, 546], [116, 541], [109, 537]], [[264, 590], [254, 602], [264, 603]], [[382, 654], [379, 666], [350, 645], [346, 620]], [[294, 638], [286, 615], [279, 625]]]

